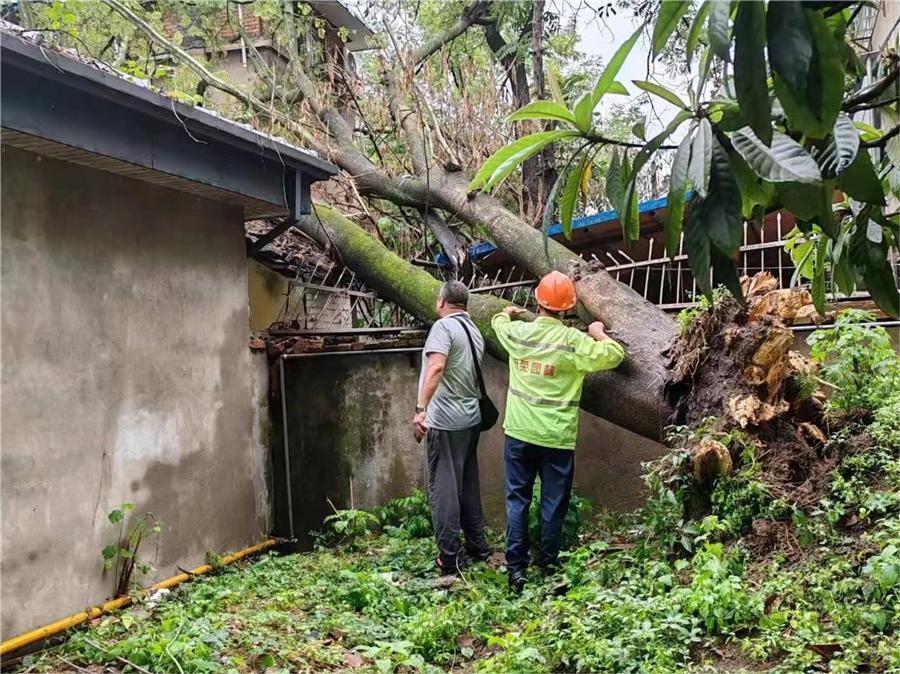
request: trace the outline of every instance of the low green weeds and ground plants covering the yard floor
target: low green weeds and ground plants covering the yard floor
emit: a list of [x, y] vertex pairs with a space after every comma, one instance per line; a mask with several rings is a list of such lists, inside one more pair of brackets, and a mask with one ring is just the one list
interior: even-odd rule
[[[739, 468], [702, 515], [687, 514], [690, 480], [671, 468], [688, 458], [673, 451], [649, 467], [639, 511], [590, 513], [576, 500], [562, 570], [515, 596], [499, 564], [439, 578], [416, 493], [338, 512], [314, 551], [198, 578], [20, 668], [128, 671], [124, 658], [183, 673], [900, 672], [900, 399], [861, 392], [893, 376], [883, 358], [854, 356], [871, 380], [861, 390], [836, 367], [848, 343], [883, 343], [859, 322], [813, 340], [830, 365], [821, 375], [852, 396], [833, 399], [841, 427], [819, 450], [829, 468], [812, 495], [773, 487], [771, 448], [719, 433]], [[712, 428], [674, 429], [674, 446]]]

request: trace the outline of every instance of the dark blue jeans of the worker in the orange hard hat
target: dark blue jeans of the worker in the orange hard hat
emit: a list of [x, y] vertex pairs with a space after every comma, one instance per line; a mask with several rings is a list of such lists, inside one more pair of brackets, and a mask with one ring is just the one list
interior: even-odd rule
[[506, 436], [503, 452], [506, 485], [506, 566], [512, 573], [528, 567], [528, 509], [534, 479], [541, 476], [541, 547], [538, 565], [558, 563], [563, 520], [572, 494], [575, 452], [541, 447]]

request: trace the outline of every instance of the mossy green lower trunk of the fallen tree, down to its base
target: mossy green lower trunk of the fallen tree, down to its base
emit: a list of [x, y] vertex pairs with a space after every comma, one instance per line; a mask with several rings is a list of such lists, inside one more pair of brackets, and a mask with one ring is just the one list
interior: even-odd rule
[[[435, 320], [440, 281], [392, 253], [337, 210], [317, 205], [316, 213], [302, 217], [297, 227], [321, 246], [335, 248], [344, 264], [380, 296], [417, 318]], [[536, 246], [534, 258], [540, 259], [541, 235], [528, 231], [535, 236], [527, 237], [525, 245]], [[526, 238], [521, 225], [516, 233]], [[563, 251], [555, 251], [555, 259], [557, 268], [565, 270], [564, 263], [575, 256], [556, 242], [549, 243]], [[661, 439], [671, 416], [663, 395], [666, 365], [662, 350], [674, 336], [674, 321], [605, 272], [584, 274], [576, 285], [585, 308], [607, 317], [610, 335], [627, 352], [626, 362], [619, 368], [585, 378], [581, 407], [634, 433]], [[609, 303], [604, 298], [610, 298]], [[488, 340], [491, 353], [500, 358], [505, 354], [494, 337], [490, 319], [507, 305], [497, 297], [481, 294], [469, 301], [469, 311]]]

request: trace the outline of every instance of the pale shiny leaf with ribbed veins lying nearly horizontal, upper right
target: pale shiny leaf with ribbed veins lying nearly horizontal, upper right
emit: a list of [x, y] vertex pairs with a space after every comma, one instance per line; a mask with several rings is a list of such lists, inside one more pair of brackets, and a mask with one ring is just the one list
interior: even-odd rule
[[773, 183], [822, 182], [816, 160], [802, 145], [779, 131], [773, 132], [771, 147], [766, 147], [750, 127], [735, 131], [731, 144], [756, 175], [764, 180]]

